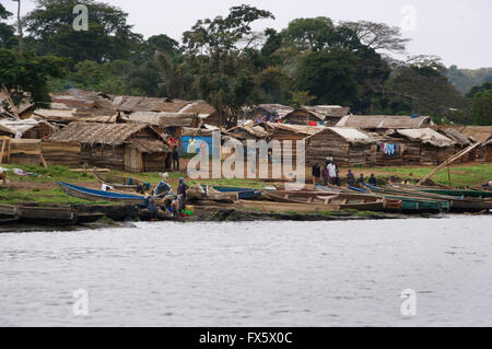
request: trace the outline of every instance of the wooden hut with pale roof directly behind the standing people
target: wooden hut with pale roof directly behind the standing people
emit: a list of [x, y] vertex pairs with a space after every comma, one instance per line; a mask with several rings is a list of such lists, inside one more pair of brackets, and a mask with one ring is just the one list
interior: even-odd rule
[[325, 164], [328, 155], [339, 166], [367, 166], [376, 162], [377, 139], [355, 128], [327, 127], [306, 141], [306, 164]]

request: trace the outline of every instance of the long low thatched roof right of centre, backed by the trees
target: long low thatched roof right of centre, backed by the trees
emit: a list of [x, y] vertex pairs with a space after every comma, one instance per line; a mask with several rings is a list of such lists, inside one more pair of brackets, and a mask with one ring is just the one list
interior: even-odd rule
[[401, 116], [401, 115], [348, 115], [337, 127], [354, 127], [362, 129], [403, 129], [424, 128], [434, 125], [429, 116]]

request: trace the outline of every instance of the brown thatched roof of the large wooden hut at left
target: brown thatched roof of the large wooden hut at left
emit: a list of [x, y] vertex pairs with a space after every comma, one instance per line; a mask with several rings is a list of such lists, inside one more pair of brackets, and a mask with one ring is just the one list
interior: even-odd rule
[[[151, 129], [152, 132], [155, 133], [156, 139], [137, 140], [131, 138], [133, 133], [145, 128]], [[153, 149], [153, 151], [157, 152], [171, 151], [171, 148], [166, 143], [160, 141], [160, 135], [152, 127], [143, 124], [71, 123], [61, 131], [52, 135], [50, 139], [113, 147], [121, 146], [124, 143], [131, 143], [137, 148]], [[152, 144], [154, 148], [151, 147]]]

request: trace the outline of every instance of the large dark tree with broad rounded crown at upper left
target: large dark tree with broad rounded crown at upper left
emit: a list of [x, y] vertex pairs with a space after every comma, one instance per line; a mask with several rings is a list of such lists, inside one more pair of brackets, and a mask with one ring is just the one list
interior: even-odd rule
[[[77, 4], [89, 9], [87, 31], [73, 28]], [[24, 22], [31, 36], [43, 42], [39, 54], [103, 62], [128, 59], [141, 43], [142, 36], [131, 31], [127, 18], [120, 9], [93, 0], [38, 0]]]

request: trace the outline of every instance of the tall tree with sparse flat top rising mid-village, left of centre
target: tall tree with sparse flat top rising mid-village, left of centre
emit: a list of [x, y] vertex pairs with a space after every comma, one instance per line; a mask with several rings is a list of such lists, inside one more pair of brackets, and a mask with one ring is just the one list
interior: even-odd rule
[[224, 126], [235, 125], [244, 106], [255, 100], [249, 47], [256, 38], [251, 24], [273, 19], [269, 11], [243, 4], [226, 18], [200, 20], [183, 35], [198, 95], [211, 103]]

